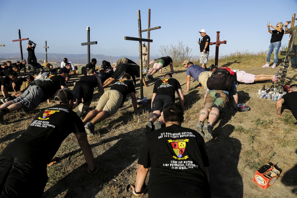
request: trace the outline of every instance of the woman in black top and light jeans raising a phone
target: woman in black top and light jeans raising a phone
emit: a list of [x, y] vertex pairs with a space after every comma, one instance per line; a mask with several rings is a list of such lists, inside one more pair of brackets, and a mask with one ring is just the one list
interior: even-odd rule
[[[277, 26], [274, 27], [271, 25], [271, 23], [268, 25], [268, 32], [271, 35], [271, 39], [270, 39], [270, 45], [268, 47], [267, 50], [267, 58], [266, 58], [266, 64], [263, 65], [262, 67], [269, 67], [269, 62], [270, 62], [270, 56], [272, 54], [274, 54], [274, 59], [273, 59], [273, 65], [272, 65], [272, 69], [276, 68], [276, 64], [277, 64], [277, 57], [278, 57], [278, 51], [280, 46], [282, 45], [282, 36], [284, 36], [285, 31], [283, 30], [284, 24], [282, 22], [277, 23]], [[270, 29], [273, 28], [274, 30]]]

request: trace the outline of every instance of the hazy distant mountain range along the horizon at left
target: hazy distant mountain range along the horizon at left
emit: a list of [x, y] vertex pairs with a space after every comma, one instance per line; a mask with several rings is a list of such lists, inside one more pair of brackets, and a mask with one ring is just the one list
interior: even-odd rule
[[[35, 53], [37, 59], [45, 59], [45, 53]], [[27, 60], [28, 53], [23, 53], [23, 58]], [[134, 61], [135, 63], [139, 63], [138, 56], [105, 56], [103, 54], [91, 54], [91, 59], [97, 59], [97, 65], [101, 64], [102, 61], [108, 61], [110, 64], [113, 64], [120, 58], [129, 58], [130, 60]], [[88, 55], [87, 54], [55, 54], [55, 53], [48, 53], [48, 62], [52, 61], [63, 61], [63, 58], [67, 58], [68, 61], [71, 61], [73, 64], [87, 64], [88, 63]], [[154, 58], [158, 58], [156, 56], [151, 56], [150, 59], [153, 60]], [[7, 61], [10, 60], [20, 61], [20, 53], [1, 53], [0, 52], [0, 61]]]

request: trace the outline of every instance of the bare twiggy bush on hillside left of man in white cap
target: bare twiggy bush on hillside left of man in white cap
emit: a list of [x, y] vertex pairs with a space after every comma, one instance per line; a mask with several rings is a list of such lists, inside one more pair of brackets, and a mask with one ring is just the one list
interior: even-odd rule
[[178, 41], [178, 45], [171, 44], [170, 47], [168, 45], [161, 45], [160, 47], [162, 56], [170, 56], [174, 65], [181, 64], [185, 60], [192, 58], [192, 55], [190, 56], [192, 48], [189, 48], [188, 45], [183, 45], [182, 41]]

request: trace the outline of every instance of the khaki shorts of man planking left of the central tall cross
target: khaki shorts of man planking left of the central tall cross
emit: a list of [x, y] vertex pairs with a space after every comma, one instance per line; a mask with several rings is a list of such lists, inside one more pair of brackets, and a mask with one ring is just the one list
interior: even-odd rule
[[123, 104], [123, 95], [117, 90], [108, 90], [100, 97], [96, 109], [108, 111], [112, 116]]

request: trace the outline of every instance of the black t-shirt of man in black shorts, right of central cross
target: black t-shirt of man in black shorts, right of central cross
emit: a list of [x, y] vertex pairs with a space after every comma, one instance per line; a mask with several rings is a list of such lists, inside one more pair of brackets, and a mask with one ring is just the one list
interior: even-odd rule
[[168, 95], [175, 98], [175, 92], [181, 89], [181, 84], [174, 78], [161, 78], [154, 85], [153, 93]]

